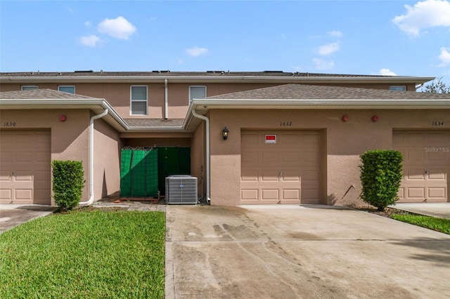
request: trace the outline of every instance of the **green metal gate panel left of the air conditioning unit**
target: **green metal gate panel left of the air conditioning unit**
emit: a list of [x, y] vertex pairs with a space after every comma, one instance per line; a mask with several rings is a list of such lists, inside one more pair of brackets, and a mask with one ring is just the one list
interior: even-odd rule
[[158, 150], [122, 149], [120, 197], [156, 196], [158, 196]]

